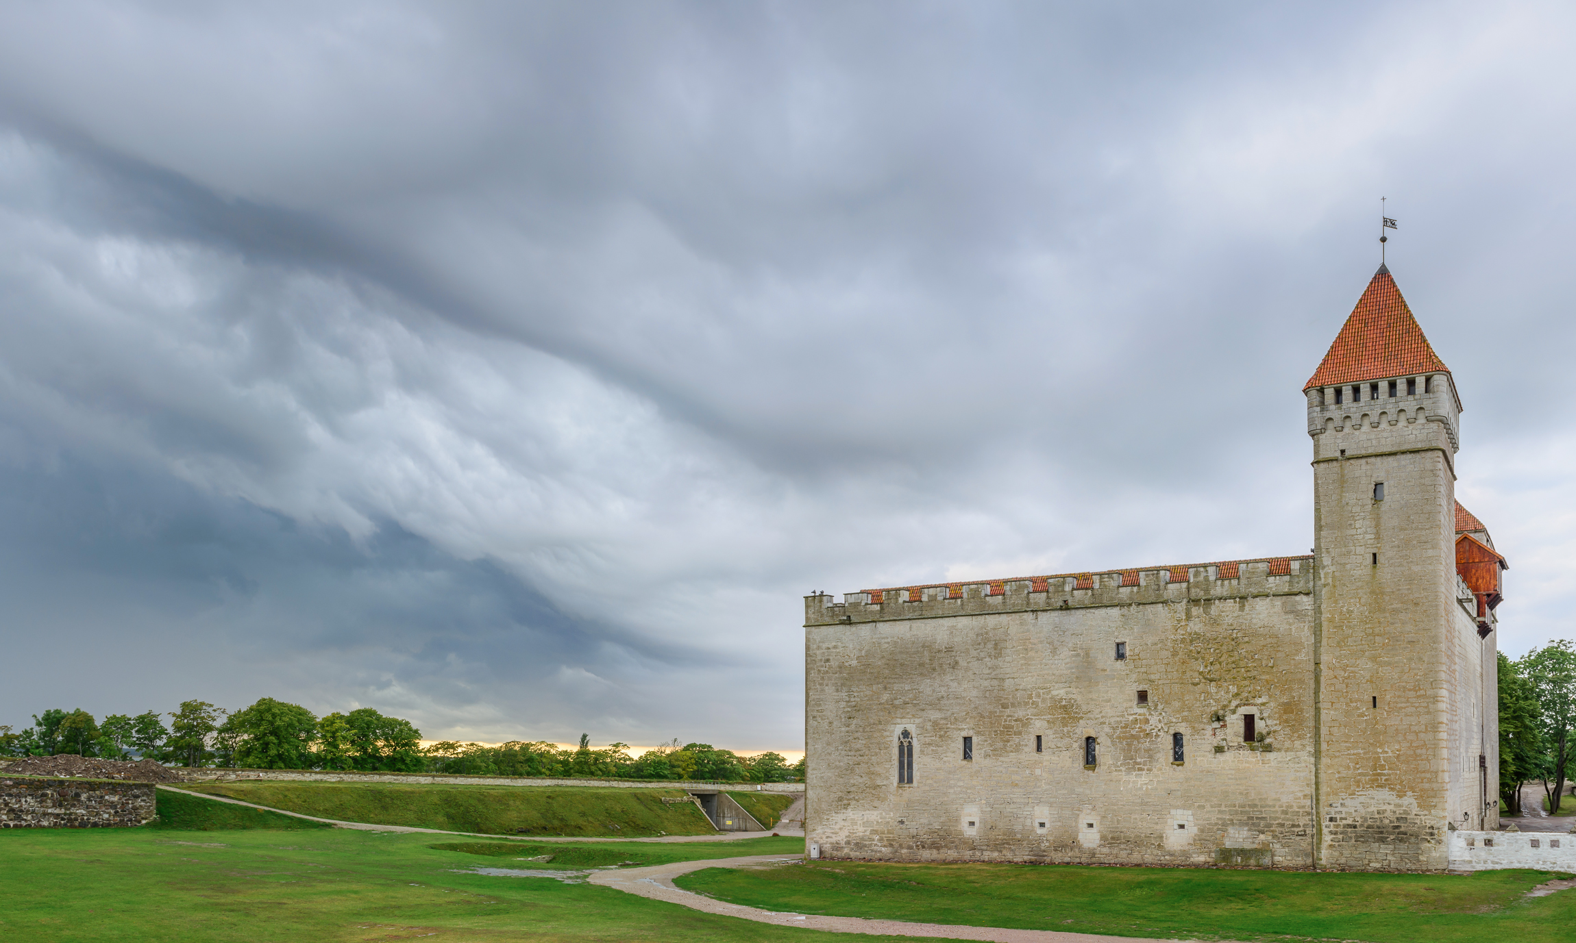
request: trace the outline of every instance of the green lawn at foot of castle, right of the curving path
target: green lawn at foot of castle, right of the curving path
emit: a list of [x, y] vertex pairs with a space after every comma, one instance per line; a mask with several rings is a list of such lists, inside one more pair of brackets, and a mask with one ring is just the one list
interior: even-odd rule
[[675, 883], [779, 912], [1119, 937], [1570, 943], [1576, 891], [1522, 897], [1551, 877], [826, 861]]

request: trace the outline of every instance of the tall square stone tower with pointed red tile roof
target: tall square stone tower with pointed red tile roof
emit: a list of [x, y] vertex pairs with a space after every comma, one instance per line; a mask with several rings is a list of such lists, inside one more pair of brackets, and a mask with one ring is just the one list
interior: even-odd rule
[[1458, 605], [1461, 400], [1385, 266], [1303, 392], [1319, 866], [1444, 867], [1447, 828], [1488, 815], [1485, 641]]

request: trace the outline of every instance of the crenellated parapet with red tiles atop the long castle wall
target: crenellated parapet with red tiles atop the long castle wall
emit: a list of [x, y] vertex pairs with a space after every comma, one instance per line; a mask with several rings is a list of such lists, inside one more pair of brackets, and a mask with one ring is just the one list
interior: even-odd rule
[[1050, 576], [965, 579], [804, 598], [805, 625], [944, 619], [1032, 609], [1084, 609], [1313, 592], [1313, 557], [1259, 557]]

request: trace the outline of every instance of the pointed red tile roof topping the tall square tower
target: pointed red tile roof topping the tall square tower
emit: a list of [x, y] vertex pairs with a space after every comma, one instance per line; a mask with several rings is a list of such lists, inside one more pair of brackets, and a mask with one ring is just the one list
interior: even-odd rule
[[1379, 266], [1330, 353], [1302, 389], [1407, 373], [1450, 373], [1450, 368], [1423, 337], [1390, 269]]

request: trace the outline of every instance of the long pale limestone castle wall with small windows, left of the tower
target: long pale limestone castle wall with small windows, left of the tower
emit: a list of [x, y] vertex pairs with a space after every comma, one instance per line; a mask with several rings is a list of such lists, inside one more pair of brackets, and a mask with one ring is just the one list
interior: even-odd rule
[[810, 597], [807, 839], [821, 858], [1310, 866], [1308, 562]]

